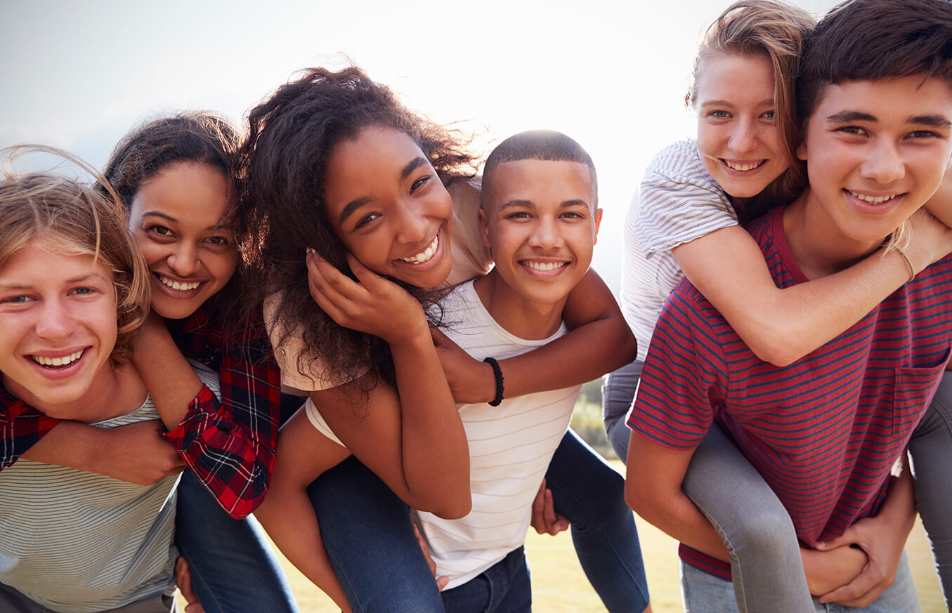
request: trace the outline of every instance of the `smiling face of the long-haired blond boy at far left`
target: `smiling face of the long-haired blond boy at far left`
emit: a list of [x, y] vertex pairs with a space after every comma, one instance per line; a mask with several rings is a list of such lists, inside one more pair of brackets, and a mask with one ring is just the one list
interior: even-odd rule
[[33, 239], [0, 267], [0, 371], [8, 391], [54, 417], [109, 365], [116, 294], [91, 255]]

